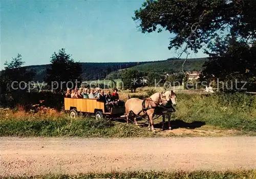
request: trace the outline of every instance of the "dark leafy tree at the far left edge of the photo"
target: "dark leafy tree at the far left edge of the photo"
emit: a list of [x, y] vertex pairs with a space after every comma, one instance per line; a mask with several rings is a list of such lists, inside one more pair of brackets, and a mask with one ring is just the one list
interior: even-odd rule
[[35, 72], [22, 67], [24, 63], [20, 54], [12, 58], [10, 62], [5, 62], [5, 70], [0, 75], [0, 91], [2, 94], [27, 89], [26, 85], [33, 79]]

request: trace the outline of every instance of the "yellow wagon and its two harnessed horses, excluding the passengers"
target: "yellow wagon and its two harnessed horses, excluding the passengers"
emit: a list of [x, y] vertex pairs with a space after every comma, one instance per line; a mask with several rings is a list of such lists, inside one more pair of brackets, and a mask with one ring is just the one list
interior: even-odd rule
[[[123, 118], [127, 123], [129, 118], [133, 118], [137, 125], [137, 117], [148, 117], [148, 122], [152, 125], [154, 130], [154, 115], [165, 116], [168, 115], [168, 126], [170, 114], [175, 111], [173, 105], [176, 104], [176, 95], [174, 92], [155, 93], [150, 98], [141, 100], [138, 98], [131, 98], [126, 101], [125, 106], [112, 107], [110, 110], [105, 106], [104, 102], [97, 101], [97, 99], [79, 99], [79, 98], [65, 98], [65, 110], [69, 111], [70, 117], [77, 117], [78, 113], [94, 114], [96, 119], [104, 117], [109, 118]], [[170, 104], [169, 106], [167, 104]], [[167, 106], [166, 106], [167, 105]]]

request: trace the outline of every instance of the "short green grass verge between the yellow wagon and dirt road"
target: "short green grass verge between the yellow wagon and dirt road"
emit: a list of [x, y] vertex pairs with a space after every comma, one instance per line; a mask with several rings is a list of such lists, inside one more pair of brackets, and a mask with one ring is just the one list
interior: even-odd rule
[[153, 137], [156, 134], [135, 125], [114, 124], [110, 120], [58, 117], [0, 121], [0, 136], [40, 137]]

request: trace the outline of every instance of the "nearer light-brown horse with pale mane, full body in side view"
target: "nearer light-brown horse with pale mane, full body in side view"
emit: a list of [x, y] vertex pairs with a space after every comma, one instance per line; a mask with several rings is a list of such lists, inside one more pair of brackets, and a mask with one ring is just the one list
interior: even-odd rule
[[[152, 100], [152, 98], [154, 98], [155, 100]], [[134, 117], [135, 124], [138, 125], [136, 121], [136, 116], [147, 116], [148, 121], [150, 121], [151, 124], [151, 130], [155, 131], [153, 121], [155, 107], [158, 106], [159, 103], [161, 103], [162, 105], [166, 105], [167, 102], [168, 101], [166, 100], [165, 94], [163, 92], [155, 93], [150, 98], [146, 98], [144, 100], [138, 98], [128, 99], [125, 102], [126, 121], [128, 123], [129, 117], [132, 115], [132, 117]], [[150, 129], [150, 125], [148, 125], [148, 127]]]

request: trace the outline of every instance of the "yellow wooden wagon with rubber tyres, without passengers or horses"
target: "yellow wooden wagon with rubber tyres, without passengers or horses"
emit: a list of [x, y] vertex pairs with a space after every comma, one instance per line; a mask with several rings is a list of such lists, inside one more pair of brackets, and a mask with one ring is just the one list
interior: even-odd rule
[[78, 113], [94, 114], [96, 119], [120, 117], [125, 113], [124, 106], [112, 107], [108, 110], [104, 102], [97, 99], [64, 98], [64, 105], [71, 118], [77, 117]]

